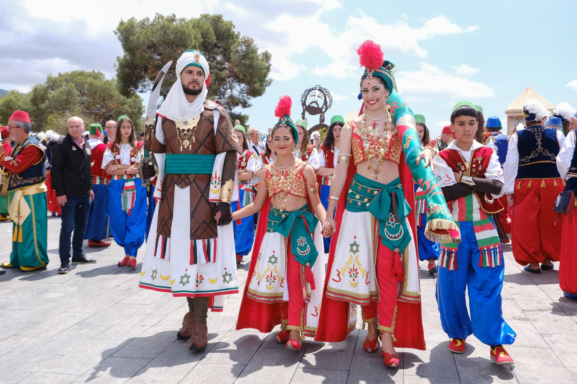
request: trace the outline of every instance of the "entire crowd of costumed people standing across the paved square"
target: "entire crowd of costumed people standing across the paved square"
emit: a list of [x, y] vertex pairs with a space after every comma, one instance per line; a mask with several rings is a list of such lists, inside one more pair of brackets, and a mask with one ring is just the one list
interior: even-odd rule
[[46, 268], [47, 210], [62, 220], [58, 273], [96, 263], [84, 239], [106, 247], [110, 237], [124, 249], [118, 266], [136, 268], [147, 239], [139, 286], [186, 297], [177, 337], [203, 349], [208, 309], [222, 311], [239, 292], [237, 264], [250, 254], [237, 329], [280, 325], [276, 340], [298, 350], [306, 336], [345, 340], [360, 312], [365, 351], [380, 344], [396, 367], [395, 348], [425, 349], [426, 260], [449, 350], [462, 353], [474, 334], [490, 359], [513, 364], [501, 244], [512, 242], [528, 273], [560, 262], [561, 290], [577, 299], [577, 113], [527, 100], [508, 136], [498, 117], [485, 121], [479, 105], [461, 101], [431, 139], [380, 46], [367, 40], [357, 53], [361, 112], [332, 117], [322, 140], [291, 119], [288, 96], [264, 139], [233, 125], [206, 98], [209, 64], [197, 50], [178, 59], [177, 81], [141, 140], [128, 116], [88, 130], [73, 116], [59, 136], [32, 134], [28, 113], [14, 112], [0, 148], [0, 215], [13, 221], [3, 267]]

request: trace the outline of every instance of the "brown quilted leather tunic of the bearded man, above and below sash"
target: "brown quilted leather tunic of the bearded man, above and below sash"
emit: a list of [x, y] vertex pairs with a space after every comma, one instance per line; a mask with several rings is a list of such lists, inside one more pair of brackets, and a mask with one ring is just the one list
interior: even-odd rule
[[[213, 120], [215, 109], [220, 111], [216, 132]], [[166, 145], [162, 145], [155, 135], [151, 135], [151, 152], [216, 155], [241, 150], [226, 111], [212, 100], [206, 100], [204, 112], [190, 120], [175, 122], [162, 118], [162, 130]], [[190, 239], [215, 238], [216, 220], [212, 216], [215, 203], [208, 201], [210, 183], [210, 174], [166, 174], [159, 202], [157, 233], [170, 237], [173, 225], [174, 188], [186, 188], [190, 185]]]

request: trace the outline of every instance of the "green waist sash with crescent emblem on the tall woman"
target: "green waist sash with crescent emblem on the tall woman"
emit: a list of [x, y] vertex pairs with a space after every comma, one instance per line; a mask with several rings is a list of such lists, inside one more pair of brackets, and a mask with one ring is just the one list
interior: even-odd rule
[[393, 252], [401, 253], [409, 245], [411, 237], [405, 218], [411, 213], [411, 207], [404, 198], [399, 177], [389, 184], [381, 184], [355, 174], [346, 209], [350, 212], [369, 211], [377, 218], [383, 245]]

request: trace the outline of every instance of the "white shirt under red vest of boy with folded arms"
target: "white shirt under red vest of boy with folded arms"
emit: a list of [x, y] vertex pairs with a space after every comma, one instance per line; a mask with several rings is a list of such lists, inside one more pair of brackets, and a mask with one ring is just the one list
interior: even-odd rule
[[[471, 148], [468, 151], [463, 151], [456, 145], [456, 140], [453, 140], [451, 143], [449, 143], [447, 149], [454, 149], [459, 151], [459, 154], [463, 157], [464, 161], [466, 161], [465, 166], [467, 166], [467, 164], [469, 164], [469, 162], [471, 161], [471, 155], [473, 154], [473, 151], [481, 147], [484, 147], [484, 145], [479, 143], [477, 140], [473, 139], [473, 145], [471, 145]], [[434, 174], [437, 178], [437, 183], [439, 183], [439, 186], [441, 188], [457, 184], [457, 181], [455, 179], [455, 171], [447, 165], [447, 162], [445, 162], [442, 157], [436, 156], [434, 158], [434, 163], [435, 163]], [[491, 154], [491, 159], [489, 160], [489, 165], [485, 170], [485, 178], [492, 180], [499, 180], [501, 181], [501, 183], [503, 183], [503, 170], [501, 169], [501, 165], [499, 164], [499, 157], [497, 157], [497, 153], [495, 153], [494, 149], [493, 153]], [[496, 195], [493, 195], [493, 193], [491, 193], [491, 196], [493, 196], [495, 199], [499, 199], [499, 197], [503, 196], [503, 189], [501, 189], [501, 192], [497, 193]], [[453, 219], [457, 220], [458, 200], [453, 201], [451, 208]], [[473, 199], [474, 212], [479, 212], [480, 209], [481, 204], [479, 203], [479, 201], [477, 199]]]

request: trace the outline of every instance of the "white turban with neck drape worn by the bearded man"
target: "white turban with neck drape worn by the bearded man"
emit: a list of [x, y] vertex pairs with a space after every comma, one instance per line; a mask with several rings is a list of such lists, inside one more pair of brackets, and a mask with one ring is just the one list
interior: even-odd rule
[[[203, 90], [194, 98], [192, 103], [186, 101], [180, 78], [182, 70], [190, 65], [201, 67], [206, 79], [203, 83]], [[204, 100], [207, 97], [207, 86], [209, 85], [210, 78], [207, 59], [204, 58], [200, 51], [185, 51], [177, 60], [176, 72], [177, 79], [156, 114], [174, 121], [185, 121], [200, 115], [200, 113], [204, 111]]]

